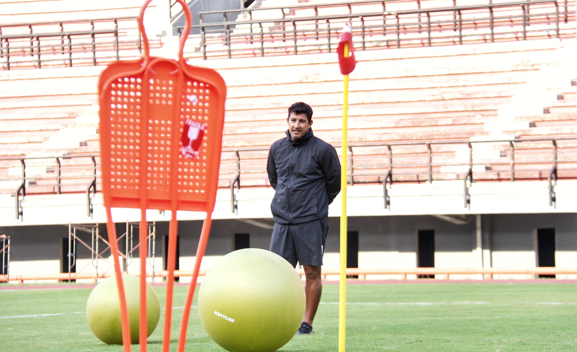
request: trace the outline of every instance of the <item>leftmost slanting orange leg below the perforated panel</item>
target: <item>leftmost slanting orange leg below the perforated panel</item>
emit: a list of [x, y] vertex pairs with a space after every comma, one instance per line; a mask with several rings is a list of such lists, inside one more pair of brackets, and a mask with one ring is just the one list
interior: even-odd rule
[[110, 242], [110, 252], [114, 260], [114, 274], [116, 276], [116, 285], [118, 287], [118, 300], [120, 301], [120, 320], [122, 324], [122, 346], [124, 352], [130, 352], [130, 322], [128, 320], [128, 306], [126, 306], [126, 296], [124, 294], [124, 283], [122, 282], [122, 270], [118, 260], [118, 243], [116, 236], [116, 226], [112, 221], [112, 211], [106, 208], [106, 229], [108, 230], [108, 241]]

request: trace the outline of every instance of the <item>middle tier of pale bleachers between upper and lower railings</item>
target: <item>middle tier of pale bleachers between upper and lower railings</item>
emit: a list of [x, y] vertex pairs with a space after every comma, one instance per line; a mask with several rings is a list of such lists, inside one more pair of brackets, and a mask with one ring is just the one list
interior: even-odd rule
[[[569, 67], [574, 49], [556, 39], [482, 48], [359, 52], [357, 58], [365, 65], [351, 76], [350, 142], [478, 142], [575, 134], [577, 86], [571, 78], [577, 75]], [[218, 69], [229, 87], [223, 147], [268, 147], [284, 130], [284, 110], [294, 100], [309, 101], [315, 109], [315, 133], [338, 144], [340, 77], [334, 60], [317, 63], [321, 57], [203, 62]], [[471, 62], [477, 63], [474, 69]], [[283, 74], [275, 75], [279, 69]], [[0, 74], [6, 89], [0, 99], [3, 155], [98, 153], [98, 106], [93, 104], [100, 70], [97, 66]], [[454, 147], [463, 150], [463, 145]], [[542, 147], [549, 152], [550, 146]], [[443, 152], [459, 152], [450, 148]], [[508, 149], [501, 146], [493, 153], [504, 153], [500, 158], [505, 159]], [[401, 150], [394, 152], [402, 158]], [[386, 162], [379, 155], [384, 154], [384, 147], [356, 147], [354, 161], [360, 167], [377, 159], [372, 164], [382, 168]], [[266, 185], [265, 155], [242, 153], [242, 169], [252, 173], [242, 177], [243, 186]], [[226, 187], [234, 176], [234, 153], [224, 153], [223, 158], [221, 183]], [[407, 158], [401, 163], [406, 164], [411, 153]]]

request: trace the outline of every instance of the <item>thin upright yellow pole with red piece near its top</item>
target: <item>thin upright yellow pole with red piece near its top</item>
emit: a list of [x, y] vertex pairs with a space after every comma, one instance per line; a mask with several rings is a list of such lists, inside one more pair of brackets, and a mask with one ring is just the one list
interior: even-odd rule
[[[349, 43], [344, 44], [344, 57], [349, 57]], [[339, 352], [344, 352], [347, 319], [347, 123], [349, 118], [349, 75], [343, 78], [343, 141], [340, 171], [340, 281], [339, 281]], [[351, 172], [353, 172], [351, 170]]]

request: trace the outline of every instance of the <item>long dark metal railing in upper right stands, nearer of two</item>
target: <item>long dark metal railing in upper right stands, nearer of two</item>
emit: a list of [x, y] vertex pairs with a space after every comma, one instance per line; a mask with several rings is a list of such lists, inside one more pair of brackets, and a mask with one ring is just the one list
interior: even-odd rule
[[332, 52], [344, 22], [353, 27], [355, 48], [371, 50], [559, 37], [563, 19], [556, 0], [536, 0], [192, 27], [200, 28], [200, 50], [207, 59]]

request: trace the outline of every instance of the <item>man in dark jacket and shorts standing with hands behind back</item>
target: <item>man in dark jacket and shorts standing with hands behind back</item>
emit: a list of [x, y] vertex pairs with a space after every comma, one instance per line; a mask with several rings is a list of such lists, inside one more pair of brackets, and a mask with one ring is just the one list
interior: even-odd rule
[[276, 193], [271, 203], [275, 225], [271, 251], [306, 275], [305, 319], [297, 335], [311, 334], [323, 282], [321, 265], [328, 233], [328, 205], [340, 192], [340, 161], [335, 147], [314, 137], [313, 109], [288, 108], [287, 137], [272, 143], [267, 172]]

